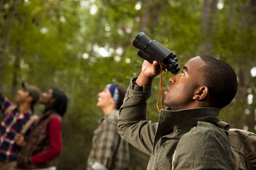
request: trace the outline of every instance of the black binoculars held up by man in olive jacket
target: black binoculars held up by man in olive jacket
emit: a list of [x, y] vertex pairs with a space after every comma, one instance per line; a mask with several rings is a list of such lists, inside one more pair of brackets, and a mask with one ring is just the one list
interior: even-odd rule
[[156, 40], [151, 40], [145, 33], [139, 33], [132, 45], [139, 49], [138, 56], [144, 60], [151, 64], [154, 61], [161, 62], [163, 69], [167, 69], [173, 74], [179, 72], [180, 67], [176, 55]]

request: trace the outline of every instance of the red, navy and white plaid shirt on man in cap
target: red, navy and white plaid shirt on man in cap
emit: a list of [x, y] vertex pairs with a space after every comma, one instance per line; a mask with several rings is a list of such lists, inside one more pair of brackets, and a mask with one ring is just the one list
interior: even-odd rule
[[10, 162], [17, 159], [17, 152], [20, 148], [14, 142], [14, 136], [22, 130], [22, 126], [33, 115], [33, 111], [19, 115], [17, 107], [5, 113], [11, 105], [13, 103], [0, 92], [0, 107], [3, 113], [3, 120], [0, 125], [0, 162]]

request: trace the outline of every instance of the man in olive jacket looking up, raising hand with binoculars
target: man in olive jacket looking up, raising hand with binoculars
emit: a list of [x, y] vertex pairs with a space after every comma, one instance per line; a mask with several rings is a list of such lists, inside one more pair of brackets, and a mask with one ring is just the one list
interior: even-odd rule
[[151, 155], [147, 169], [232, 169], [229, 143], [217, 128], [219, 109], [237, 92], [237, 77], [225, 62], [211, 56], [190, 59], [169, 79], [158, 123], [146, 118], [146, 100], [159, 63], [144, 61], [120, 108], [118, 133]]

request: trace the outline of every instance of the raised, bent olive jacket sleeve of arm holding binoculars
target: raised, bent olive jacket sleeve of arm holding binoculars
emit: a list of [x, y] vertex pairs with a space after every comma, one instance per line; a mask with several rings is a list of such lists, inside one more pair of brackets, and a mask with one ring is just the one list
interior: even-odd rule
[[131, 81], [119, 110], [117, 129], [131, 145], [151, 155], [157, 123], [146, 118], [146, 100], [151, 96], [152, 87], [137, 86], [134, 84], [136, 79]]

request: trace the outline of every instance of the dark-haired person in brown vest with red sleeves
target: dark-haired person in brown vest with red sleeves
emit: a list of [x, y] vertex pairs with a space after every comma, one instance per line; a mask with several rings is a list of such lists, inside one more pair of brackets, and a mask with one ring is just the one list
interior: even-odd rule
[[61, 153], [61, 118], [66, 112], [68, 98], [58, 89], [49, 89], [42, 93], [39, 102], [45, 110], [28, 139], [24, 141], [21, 134], [15, 136], [15, 142], [22, 147], [17, 169], [56, 170], [54, 158]]

